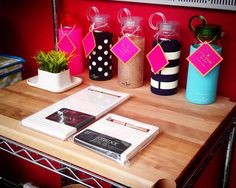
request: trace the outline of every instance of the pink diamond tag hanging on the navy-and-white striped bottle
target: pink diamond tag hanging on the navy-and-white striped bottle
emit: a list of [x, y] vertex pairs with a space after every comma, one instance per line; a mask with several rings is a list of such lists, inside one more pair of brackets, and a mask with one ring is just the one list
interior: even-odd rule
[[157, 74], [160, 70], [169, 64], [165, 53], [160, 44], [157, 44], [148, 54], [147, 59], [152, 67], [152, 70]]

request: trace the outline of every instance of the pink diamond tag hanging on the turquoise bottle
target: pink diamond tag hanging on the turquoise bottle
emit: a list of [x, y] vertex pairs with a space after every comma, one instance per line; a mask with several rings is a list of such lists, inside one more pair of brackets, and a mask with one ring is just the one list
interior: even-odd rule
[[194, 51], [187, 60], [201, 73], [206, 76], [223, 58], [207, 42], [204, 42]]

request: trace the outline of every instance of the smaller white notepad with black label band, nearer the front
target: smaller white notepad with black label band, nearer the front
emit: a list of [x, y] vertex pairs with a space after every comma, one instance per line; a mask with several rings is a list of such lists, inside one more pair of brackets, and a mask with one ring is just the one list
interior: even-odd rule
[[127, 164], [158, 133], [157, 126], [108, 114], [78, 132], [74, 142], [121, 164]]

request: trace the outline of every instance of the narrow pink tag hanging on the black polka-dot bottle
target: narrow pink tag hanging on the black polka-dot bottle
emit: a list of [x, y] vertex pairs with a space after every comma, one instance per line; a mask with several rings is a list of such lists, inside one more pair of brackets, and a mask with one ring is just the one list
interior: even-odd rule
[[83, 41], [84, 46], [84, 52], [85, 56], [88, 57], [89, 54], [93, 51], [93, 49], [96, 47], [96, 42], [94, 39], [94, 35], [92, 31], [89, 31], [87, 35], [84, 37]]

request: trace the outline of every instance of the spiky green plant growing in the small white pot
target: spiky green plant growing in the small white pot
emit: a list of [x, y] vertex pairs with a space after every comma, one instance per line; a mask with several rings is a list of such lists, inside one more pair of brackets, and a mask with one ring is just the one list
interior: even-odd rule
[[51, 73], [60, 73], [67, 70], [69, 59], [70, 57], [67, 57], [65, 52], [55, 50], [40, 51], [35, 56], [39, 69]]

